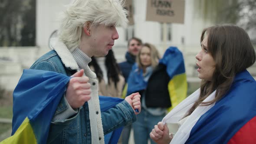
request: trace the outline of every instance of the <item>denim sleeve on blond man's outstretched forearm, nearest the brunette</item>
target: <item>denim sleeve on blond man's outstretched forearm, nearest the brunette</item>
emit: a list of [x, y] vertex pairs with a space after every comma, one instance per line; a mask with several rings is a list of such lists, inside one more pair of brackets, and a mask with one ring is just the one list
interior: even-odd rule
[[122, 101], [108, 111], [102, 112], [102, 125], [104, 134], [131, 124], [137, 120], [134, 110], [127, 101]]

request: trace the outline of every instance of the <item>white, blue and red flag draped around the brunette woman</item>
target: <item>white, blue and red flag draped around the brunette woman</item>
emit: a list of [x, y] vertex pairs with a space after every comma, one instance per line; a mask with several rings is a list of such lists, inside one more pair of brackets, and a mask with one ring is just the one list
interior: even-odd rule
[[[199, 98], [200, 89], [177, 105], [164, 118], [177, 123]], [[215, 98], [215, 92], [204, 101]], [[236, 75], [230, 90], [219, 101], [198, 106], [188, 116], [171, 144], [253, 144], [256, 141], [256, 81], [248, 71]]]

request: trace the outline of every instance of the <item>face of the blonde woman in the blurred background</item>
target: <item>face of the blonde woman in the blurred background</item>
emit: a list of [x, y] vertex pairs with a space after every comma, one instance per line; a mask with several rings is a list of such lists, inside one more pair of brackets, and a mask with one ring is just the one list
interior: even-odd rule
[[151, 65], [151, 51], [147, 46], [143, 46], [140, 52], [141, 65], [148, 67]]

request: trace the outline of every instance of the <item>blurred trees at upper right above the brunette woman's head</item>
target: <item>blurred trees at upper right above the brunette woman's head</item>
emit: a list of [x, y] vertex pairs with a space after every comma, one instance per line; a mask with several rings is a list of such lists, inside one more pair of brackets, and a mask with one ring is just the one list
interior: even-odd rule
[[256, 30], [256, 0], [194, 0], [196, 16], [214, 24], [234, 23]]

